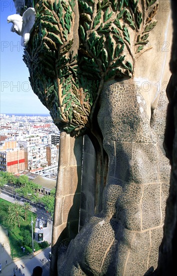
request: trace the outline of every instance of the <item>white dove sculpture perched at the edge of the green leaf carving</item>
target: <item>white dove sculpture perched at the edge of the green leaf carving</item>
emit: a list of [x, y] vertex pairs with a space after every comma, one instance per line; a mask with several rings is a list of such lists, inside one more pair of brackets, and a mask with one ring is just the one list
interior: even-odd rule
[[21, 46], [26, 46], [29, 41], [30, 31], [35, 22], [34, 8], [28, 8], [22, 15], [11, 15], [7, 17], [7, 23], [12, 23], [11, 32], [21, 36]]

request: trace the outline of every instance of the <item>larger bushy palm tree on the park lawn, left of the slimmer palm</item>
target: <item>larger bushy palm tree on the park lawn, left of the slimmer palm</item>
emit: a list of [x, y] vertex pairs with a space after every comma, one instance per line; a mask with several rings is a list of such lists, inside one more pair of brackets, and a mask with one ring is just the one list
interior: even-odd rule
[[8, 221], [20, 227], [20, 221], [24, 220], [24, 209], [19, 203], [10, 204], [8, 207]]

